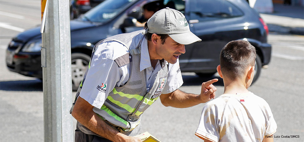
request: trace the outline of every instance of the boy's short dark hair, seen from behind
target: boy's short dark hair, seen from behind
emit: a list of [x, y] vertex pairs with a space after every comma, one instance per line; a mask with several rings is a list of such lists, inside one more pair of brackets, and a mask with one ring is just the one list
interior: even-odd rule
[[249, 66], [254, 66], [256, 49], [248, 41], [227, 43], [220, 54], [222, 74], [231, 80], [243, 77]]

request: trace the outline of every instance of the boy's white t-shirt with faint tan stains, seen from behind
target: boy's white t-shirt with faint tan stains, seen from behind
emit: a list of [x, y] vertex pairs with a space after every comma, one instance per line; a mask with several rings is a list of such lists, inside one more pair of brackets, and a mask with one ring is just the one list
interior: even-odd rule
[[276, 128], [264, 99], [251, 92], [223, 94], [204, 106], [195, 135], [214, 142], [261, 142]]

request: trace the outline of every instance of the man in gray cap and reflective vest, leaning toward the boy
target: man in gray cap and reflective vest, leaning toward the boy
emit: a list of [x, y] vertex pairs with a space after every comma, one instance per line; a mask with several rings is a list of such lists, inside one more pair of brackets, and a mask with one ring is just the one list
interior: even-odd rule
[[182, 13], [162, 9], [145, 29], [95, 45], [71, 112], [78, 121], [75, 141], [139, 142], [133, 136], [141, 129], [141, 115], [156, 99], [186, 108], [215, 97], [217, 79], [203, 83], [200, 95], [178, 89], [183, 83], [178, 58], [185, 44], [201, 41]]

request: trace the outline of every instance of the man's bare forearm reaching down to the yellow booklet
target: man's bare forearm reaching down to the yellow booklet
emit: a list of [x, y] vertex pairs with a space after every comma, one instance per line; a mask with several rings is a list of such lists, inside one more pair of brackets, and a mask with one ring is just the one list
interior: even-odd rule
[[140, 138], [129, 137], [118, 131], [114, 130], [112, 127], [107, 125], [94, 111], [94, 106], [89, 104], [85, 99], [78, 97], [73, 111], [72, 116], [81, 124], [86, 126], [91, 131], [96, 134], [109, 139], [114, 142], [141, 142]]

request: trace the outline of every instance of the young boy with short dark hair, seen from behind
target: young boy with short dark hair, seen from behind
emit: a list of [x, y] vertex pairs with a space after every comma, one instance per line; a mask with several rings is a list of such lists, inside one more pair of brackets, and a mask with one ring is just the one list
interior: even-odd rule
[[247, 89], [256, 52], [247, 41], [231, 41], [220, 54], [224, 94], [207, 103], [195, 135], [205, 142], [272, 142], [277, 125], [267, 102]]

